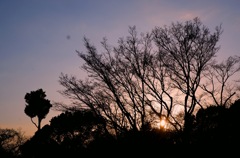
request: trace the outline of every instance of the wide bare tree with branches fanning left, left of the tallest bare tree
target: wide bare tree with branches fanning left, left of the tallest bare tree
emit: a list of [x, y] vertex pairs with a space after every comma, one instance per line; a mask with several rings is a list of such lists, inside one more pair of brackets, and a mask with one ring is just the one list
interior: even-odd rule
[[83, 69], [92, 80], [82, 81], [62, 74], [62, 91], [79, 105], [87, 106], [96, 114], [103, 115], [116, 133], [126, 130], [143, 130], [151, 122], [147, 91], [143, 81], [147, 73], [149, 35], [137, 37], [135, 27], [130, 27], [130, 36], [120, 38], [119, 46], [113, 49], [102, 41], [105, 52], [97, 54], [96, 48], [84, 38], [87, 54], [77, 52], [85, 61]]

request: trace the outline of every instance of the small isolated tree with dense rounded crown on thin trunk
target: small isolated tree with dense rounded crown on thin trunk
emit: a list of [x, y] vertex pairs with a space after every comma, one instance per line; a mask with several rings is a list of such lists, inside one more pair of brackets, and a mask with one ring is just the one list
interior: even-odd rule
[[[48, 99], [45, 99], [46, 94], [42, 89], [36, 91], [31, 91], [26, 93], [24, 99], [26, 101], [26, 107], [24, 112], [31, 118], [32, 123], [37, 127], [38, 130], [41, 129], [41, 121], [49, 113], [49, 109], [52, 104]], [[38, 118], [38, 124], [33, 121], [33, 118]]]

